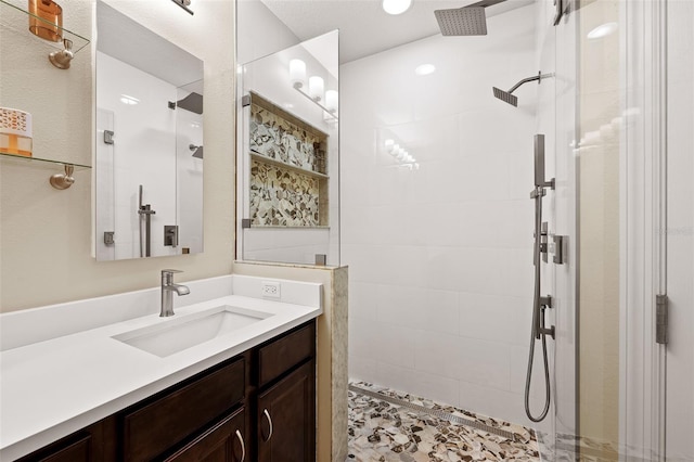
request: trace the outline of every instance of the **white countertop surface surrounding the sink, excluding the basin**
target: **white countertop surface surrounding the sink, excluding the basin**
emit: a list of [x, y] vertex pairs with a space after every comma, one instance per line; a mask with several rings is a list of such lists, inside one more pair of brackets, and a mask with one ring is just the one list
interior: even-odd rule
[[[112, 338], [228, 305], [269, 315], [167, 357]], [[0, 460], [27, 454], [224, 359], [297, 326], [320, 307], [229, 295], [0, 354]]]

